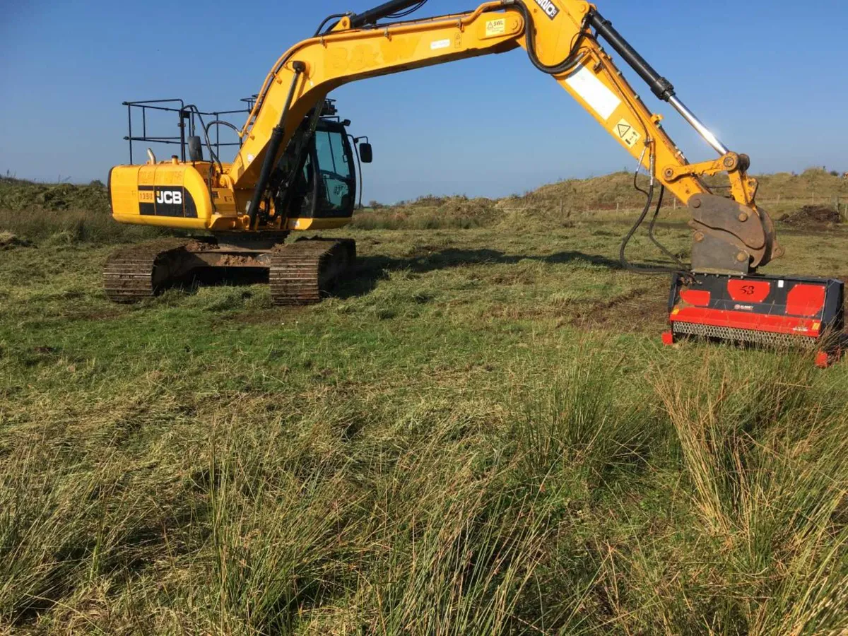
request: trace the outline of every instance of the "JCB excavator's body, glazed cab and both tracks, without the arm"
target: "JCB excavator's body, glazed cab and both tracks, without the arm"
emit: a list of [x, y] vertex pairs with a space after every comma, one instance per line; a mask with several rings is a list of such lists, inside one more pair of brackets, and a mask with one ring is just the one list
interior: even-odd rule
[[[103, 283], [115, 302], [148, 298], [202, 270], [238, 268], [267, 271], [276, 304], [317, 303], [354, 263], [355, 243], [349, 239], [283, 242], [292, 231], [349, 223], [357, 197], [361, 198], [361, 164], [372, 159], [367, 138], [362, 137], [365, 142], [357, 147], [360, 140], [348, 132], [350, 121], [338, 117], [332, 100], [316, 107], [320, 112], [311, 110], [273, 165], [254, 219], [246, 212], [248, 198], [235, 196], [225, 186], [226, 170], [232, 164], [220, 161], [227, 147], [243, 148], [243, 135], [226, 141], [220, 129], [239, 132], [226, 117], [249, 113], [254, 99], [244, 101], [248, 109], [228, 112], [202, 112], [181, 100], [125, 103], [130, 164], [109, 172], [113, 218], [204, 234], [191, 240], [165, 239], [122, 248], [113, 254], [103, 271]], [[175, 114], [178, 137], [150, 132], [157, 115], [170, 119]], [[158, 161], [148, 148], [147, 163], [139, 165], [133, 161], [133, 142], [153, 148], [178, 147], [179, 154]]]

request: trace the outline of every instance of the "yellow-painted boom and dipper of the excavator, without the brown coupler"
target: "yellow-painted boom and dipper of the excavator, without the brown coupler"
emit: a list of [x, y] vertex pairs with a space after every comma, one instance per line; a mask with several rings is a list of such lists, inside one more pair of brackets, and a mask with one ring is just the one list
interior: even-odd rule
[[[544, 64], [555, 64], [566, 57], [572, 43], [584, 31], [583, 20], [594, 8], [594, 5], [586, 2], [562, 0], [558, 6], [563, 10], [554, 20], [550, 20], [535, 3], [527, 3], [527, 6], [533, 17], [536, 52]], [[493, 20], [504, 21], [503, 35], [492, 35], [490, 25]], [[232, 164], [230, 176], [237, 187], [247, 187], [255, 181], [265, 144], [279, 120], [287, 97], [294, 60], [304, 62], [307, 71], [292, 105], [287, 137], [315, 103], [319, 103], [327, 93], [343, 83], [430, 64], [444, 64], [475, 55], [502, 53], [519, 46], [526, 47], [524, 35], [523, 19], [518, 11], [504, 9], [501, 3], [484, 3], [467, 14], [394, 25], [382, 30], [343, 31], [337, 27], [337, 31], [330, 35], [299, 42], [278, 60], [268, 75], [254, 112], [243, 129], [245, 143]], [[446, 42], [449, 42], [448, 46], [445, 46]], [[641, 158], [644, 168], [650, 168], [651, 150], [656, 156], [658, 167], [682, 169], [688, 165], [683, 153], [662, 129], [661, 117], [647, 109], [638, 93], [616, 68], [611, 56], [591, 37], [583, 40], [581, 52], [583, 62], [577, 69], [568, 75], [556, 77], [556, 81], [628, 153], [635, 159]], [[598, 93], [603, 90], [609, 92], [617, 102], [611, 112], [608, 109], [599, 112], [595, 108], [598, 105]], [[601, 97], [600, 101], [603, 103], [610, 99]], [[729, 172], [734, 197], [740, 203], [753, 207], [754, 192], [751, 192], [747, 177], [741, 174], [741, 170]], [[684, 203], [698, 192], [708, 192], [699, 176], [693, 172], [667, 180], [657, 174], [659, 181]]]

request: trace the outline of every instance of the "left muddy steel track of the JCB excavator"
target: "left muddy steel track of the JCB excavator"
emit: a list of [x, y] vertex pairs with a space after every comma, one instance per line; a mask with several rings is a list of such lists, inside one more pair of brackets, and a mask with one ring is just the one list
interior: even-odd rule
[[103, 268], [103, 289], [114, 303], [152, 298], [170, 280], [170, 264], [185, 252], [187, 240], [165, 239], [115, 252]]

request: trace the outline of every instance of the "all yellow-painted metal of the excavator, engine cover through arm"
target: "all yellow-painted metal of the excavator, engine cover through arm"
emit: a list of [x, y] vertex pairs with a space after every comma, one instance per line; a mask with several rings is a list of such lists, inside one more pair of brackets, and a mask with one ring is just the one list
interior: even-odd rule
[[[534, 48], [540, 61], [549, 65], [559, 63], [572, 52], [579, 36], [585, 36], [580, 40], [579, 64], [567, 74], [556, 76], [555, 81], [589, 111], [622, 148], [641, 161], [645, 169], [650, 170], [653, 166], [657, 180], [683, 203], [695, 194], [710, 192], [701, 176], [725, 171], [733, 197], [759, 214], [755, 201], [756, 181], [745, 174], [738, 155], [729, 153], [717, 161], [689, 165], [663, 130], [661, 116], [647, 108], [585, 25], [594, 4], [583, 0], [555, 0], [555, 5], [560, 12], [551, 19], [537, 3], [526, 2], [528, 15], [533, 21]], [[202, 214], [198, 207], [198, 220], [192, 223], [201, 224], [204, 229], [226, 226], [227, 230], [248, 231], [244, 213], [259, 178], [259, 168], [265, 158], [271, 132], [278, 125], [286, 106], [293, 82], [294, 62], [302, 62], [306, 71], [296, 86], [280, 153], [310, 110], [320, 106], [338, 86], [378, 75], [526, 48], [526, 26], [522, 13], [510, 4], [488, 2], [467, 13], [363, 30], [350, 29], [349, 19], [343, 18], [330, 33], [298, 42], [277, 60], [267, 75], [254, 109], [240, 133], [243, 145], [232, 164], [224, 165], [222, 171], [215, 165], [211, 166], [210, 181], [213, 192], [218, 193], [219, 198], [215, 201], [220, 201], [220, 204], [212, 206], [208, 190], [205, 199], [204, 192], [201, 192], [206, 187], [209, 164], [169, 168], [187, 183], [191, 181], [196, 200], [204, 201]], [[160, 178], [180, 178], [171, 176], [172, 173], [162, 170], [161, 166], [156, 166], [153, 173], [145, 171], [145, 168], [148, 166], [141, 170], [128, 167], [115, 169], [113, 195], [116, 218], [121, 222], [173, 226], [182, 226], [177, 221], [180, 224], [189, 222], [142, 217], [132, 208], [130, 202], [136, 196], [132, 192], [132, 170], [137, 170], [138, 183], [142, 182], [142, 173], [145, 179], [153, 178], [157, 185]], [[192, 177], [189, 178], [189, 175]], [[224, 190], [232, 192], [232, 196], [227, 197]], [[259, 232], [281, 228], [323, 229], [343, 226], [348, 221], [294, 219], [287, 218], [286, 210], [271, 210], [271, 224], [260, 227]]]

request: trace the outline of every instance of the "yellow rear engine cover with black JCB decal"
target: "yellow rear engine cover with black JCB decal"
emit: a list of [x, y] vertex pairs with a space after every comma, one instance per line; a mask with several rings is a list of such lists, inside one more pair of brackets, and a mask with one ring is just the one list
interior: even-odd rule
[[213, 229], [220, 225], [220, 215], [213, 211], [209, 198], [204, 179], [208, 170], [209, 164], [199, 162], [115, 166], [109, 172], [114, 220], [142, 226]]

